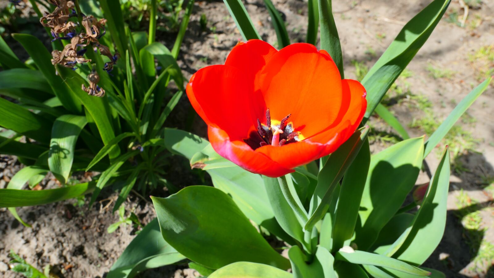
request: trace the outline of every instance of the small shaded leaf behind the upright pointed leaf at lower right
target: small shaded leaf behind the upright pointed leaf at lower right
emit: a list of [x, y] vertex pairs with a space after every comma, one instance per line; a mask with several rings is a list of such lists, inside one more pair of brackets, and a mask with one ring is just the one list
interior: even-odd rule
[[375, 240], [370, 250], [374, 253], [386, 255], [393, 243], [410, 227], [412, 227], [415, 216], [411, 213], [399, 213], [382, 228], [379, 237]]

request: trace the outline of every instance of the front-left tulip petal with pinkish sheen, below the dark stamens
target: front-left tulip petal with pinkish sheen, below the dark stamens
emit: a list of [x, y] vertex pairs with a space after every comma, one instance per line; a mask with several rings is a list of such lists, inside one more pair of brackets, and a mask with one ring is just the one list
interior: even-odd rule
[[247, 171], [273, 178], [294, 172], [294, 170], [274, 162], [265, 155], [253, 151], [242, 141], [230, 141], [228, 134], [224, 130], [208, 126], [207, 136], [211, 146], [220, 156]]

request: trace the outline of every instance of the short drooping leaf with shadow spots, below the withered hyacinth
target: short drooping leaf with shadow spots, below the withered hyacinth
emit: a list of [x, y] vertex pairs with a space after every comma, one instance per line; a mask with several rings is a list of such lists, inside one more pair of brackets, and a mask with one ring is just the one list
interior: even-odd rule
[[77, 138], [87, 119], [83, 116], [63, 115], [58, 117], [51, 129], [48, 165], [53, 175], [65, 184], [69, 178]]

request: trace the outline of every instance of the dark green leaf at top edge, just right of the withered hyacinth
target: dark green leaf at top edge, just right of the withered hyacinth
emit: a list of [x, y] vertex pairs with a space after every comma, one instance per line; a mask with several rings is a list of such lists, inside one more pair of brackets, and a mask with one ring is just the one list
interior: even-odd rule
[[112, 39], [117, 46], [118, 52], [123, 56], [127, 51], [127, 40], [124, 29], [124, 19], [120, 1], [115, 0], [99, 0], [103, 16], [107, 20], [107, 27], [110, 31]]

